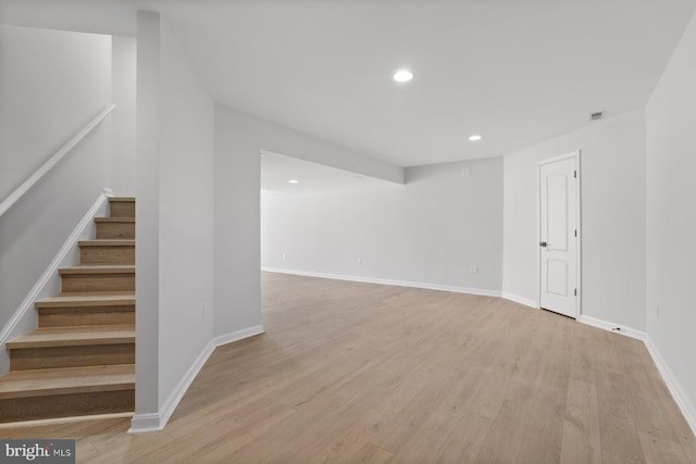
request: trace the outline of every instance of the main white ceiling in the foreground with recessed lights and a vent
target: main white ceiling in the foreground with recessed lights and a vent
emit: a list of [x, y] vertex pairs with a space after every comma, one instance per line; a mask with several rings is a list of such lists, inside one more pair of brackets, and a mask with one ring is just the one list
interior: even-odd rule
[[[159, 10], [219, 102], [405, 166], [504, 154], [589, 124], [589, 112], [642, 106], [695, 8], [694, 0], [3, 3], [14, 16], [121, 34], [133, 33], [137, 8]], [[401, 66], [413, 70], [412, 83], [391, 80]], [[469, 142], [474, 133], [484, 139]]]

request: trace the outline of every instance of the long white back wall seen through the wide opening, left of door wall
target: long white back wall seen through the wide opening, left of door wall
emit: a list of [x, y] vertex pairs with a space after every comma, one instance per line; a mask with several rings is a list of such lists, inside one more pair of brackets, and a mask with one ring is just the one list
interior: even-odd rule
[[409, 167], [406, 179], [264, 192], [262, 266], [499, 292], [502, 159]]

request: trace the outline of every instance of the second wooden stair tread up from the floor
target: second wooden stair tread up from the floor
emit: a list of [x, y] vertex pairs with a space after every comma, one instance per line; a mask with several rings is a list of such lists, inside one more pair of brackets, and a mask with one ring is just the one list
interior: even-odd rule
[[116, 344], [135, 342], [135, 326], [73, 326], [39, 327], [8, 341], [9, 349], [79, 347], [89, 344]]

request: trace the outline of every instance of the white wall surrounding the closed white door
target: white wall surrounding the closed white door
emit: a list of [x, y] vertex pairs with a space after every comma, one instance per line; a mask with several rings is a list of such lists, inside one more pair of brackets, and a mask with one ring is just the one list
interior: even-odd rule
[[581, 150], [582, 313], [645, 330], [645, 113], [505, 156], [502, 291], [536, 304], [536, 162]]

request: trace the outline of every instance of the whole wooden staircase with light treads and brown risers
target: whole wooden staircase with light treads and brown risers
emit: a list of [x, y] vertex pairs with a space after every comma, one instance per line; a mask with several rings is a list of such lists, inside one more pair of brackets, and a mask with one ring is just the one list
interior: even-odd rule
[[135, 199], [110, 198], [61, 293], [36, 301], [39, 328], [7, 343], [0, 423], [135, 409]]

